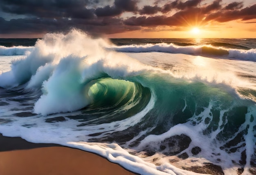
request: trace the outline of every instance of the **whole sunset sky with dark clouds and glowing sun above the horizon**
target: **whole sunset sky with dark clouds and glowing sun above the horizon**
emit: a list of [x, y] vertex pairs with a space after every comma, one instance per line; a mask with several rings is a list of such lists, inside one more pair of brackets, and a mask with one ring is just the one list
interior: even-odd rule
[[256, 38], [256, 0], [0, 0], [0, 38]]

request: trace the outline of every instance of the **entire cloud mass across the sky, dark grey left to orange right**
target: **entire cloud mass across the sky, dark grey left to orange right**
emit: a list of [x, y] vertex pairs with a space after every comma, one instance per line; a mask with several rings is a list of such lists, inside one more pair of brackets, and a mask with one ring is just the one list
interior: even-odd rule
[[[0, 0], [0, 14], [4, 14], [4, 18], [0, 17], [0, 34], [46, 33], [74, 27], [90, 33], [115, 34], [146, 31], [148, 27], [174, 29], [210, 21], [256, 19], [256, 4], [243, 8], [243, 2], [225, 4], [222, 0], [212, 0], [209, 4], [203, 3], [204, 0], [155, 0], [153, 5], [139, 7], [139, 1]], [[124, 17], [125, 12], [131, 13]], [[16, 17], [11, 19], [11, 16]]]

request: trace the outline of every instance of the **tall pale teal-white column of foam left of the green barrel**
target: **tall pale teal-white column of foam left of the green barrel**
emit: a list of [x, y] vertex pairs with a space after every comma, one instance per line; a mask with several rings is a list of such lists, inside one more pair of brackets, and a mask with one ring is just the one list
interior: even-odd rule
[[34, 112], [52, 114], [79, 110], [90, 102], [83, 95], [79, 58], [60, 61], [52, 76], [43, 83], [44, 94], [35, 103]]

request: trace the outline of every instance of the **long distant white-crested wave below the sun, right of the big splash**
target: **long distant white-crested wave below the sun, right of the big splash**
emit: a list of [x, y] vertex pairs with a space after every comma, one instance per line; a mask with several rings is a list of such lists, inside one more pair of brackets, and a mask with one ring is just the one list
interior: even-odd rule
[[165, 52], [171, 54], [191, 54], [200, 56], [227, 56], [227, 58], [237, 60], [256, 61], [256, 49], [227, 49], [225, 47], [215, 47], [212, 45], [177, 46], [173, 43], [159, 43], [146, 45], [113, 46], [110, 49], [114, 49], [118, 52]]

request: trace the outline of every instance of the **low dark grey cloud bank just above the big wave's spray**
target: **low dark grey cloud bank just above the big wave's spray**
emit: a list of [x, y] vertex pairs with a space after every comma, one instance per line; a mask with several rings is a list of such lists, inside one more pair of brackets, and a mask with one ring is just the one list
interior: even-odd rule
[[47, 33], [56, 31], [69, 31], [72, 28], [82, 29], [91, 34], [115, 34], [126, 31], [134, 31], [141, 29], [139, 26], [125, 26], [122, 21], [117, 18], [101, 18], [101, 19], [59, 19], [52, 20], [49, 18], [38, 19], [13, 19], [6, 21], [0, 17], [0, 34], [9, 33]]

